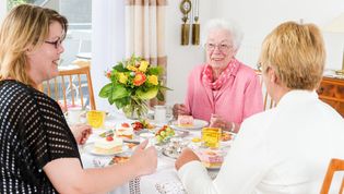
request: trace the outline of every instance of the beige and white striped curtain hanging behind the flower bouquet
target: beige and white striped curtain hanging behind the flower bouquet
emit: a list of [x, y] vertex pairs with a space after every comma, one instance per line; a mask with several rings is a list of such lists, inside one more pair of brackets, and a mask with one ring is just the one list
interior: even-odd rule
[[[165, 7], [167, 0], [126, 0], [126, 58], [140, 56], [165, 70]], [[165, 95], [166, 96], [166, 95]], [[151, 106], [164, 104], [151, 100]]]

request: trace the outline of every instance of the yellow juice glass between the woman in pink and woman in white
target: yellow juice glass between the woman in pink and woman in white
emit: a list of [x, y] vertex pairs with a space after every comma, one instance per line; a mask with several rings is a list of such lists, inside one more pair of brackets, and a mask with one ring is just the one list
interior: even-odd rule
[[222, 130], [220, 128], [203, 128], [202, 142], [205, 147], [218, 148]]

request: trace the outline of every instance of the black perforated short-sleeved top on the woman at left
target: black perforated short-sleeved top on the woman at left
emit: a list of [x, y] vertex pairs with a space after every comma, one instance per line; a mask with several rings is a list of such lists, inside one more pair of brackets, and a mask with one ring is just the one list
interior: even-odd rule
[[43, 167], [79, 158], [58, 104], [16, 81], [0, 82], [0, 193], [57, 193]]

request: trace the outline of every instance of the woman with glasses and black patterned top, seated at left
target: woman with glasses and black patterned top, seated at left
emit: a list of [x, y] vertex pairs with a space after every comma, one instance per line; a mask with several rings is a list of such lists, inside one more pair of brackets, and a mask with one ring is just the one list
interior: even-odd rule
[[[67, 20], [22, 4], [0, 29], [0, 193], [106, 193], [156, 168], [156, 150], [141, 144], [131, 159], [83, 169], [75, 137], [59, 105], [37, 90], [58, 75]], [[78, 138], [79, 140], [79, 138]]]

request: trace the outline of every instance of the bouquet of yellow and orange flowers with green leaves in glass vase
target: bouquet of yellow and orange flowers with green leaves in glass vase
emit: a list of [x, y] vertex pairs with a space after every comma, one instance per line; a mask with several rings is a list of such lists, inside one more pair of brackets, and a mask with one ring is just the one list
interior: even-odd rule
[[112, 70], [106, 72], [110, 83], [99, 92], [99, 97], [107, 98], [110, 105], [122, 109], [127, 118], [141, 119], [147, 113], [147, 100], [157, 98], [164, 100], [164, 89], [159, 76], [161, 66], [151, 64], [140, 57], [118, 62]]

